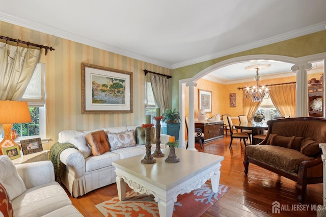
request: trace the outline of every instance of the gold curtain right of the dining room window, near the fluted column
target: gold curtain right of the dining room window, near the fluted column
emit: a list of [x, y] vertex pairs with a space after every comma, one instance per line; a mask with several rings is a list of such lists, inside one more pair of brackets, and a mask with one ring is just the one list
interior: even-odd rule
[[269, 96], [281, 116], [295, 117], [295, 84], [271, 86]]

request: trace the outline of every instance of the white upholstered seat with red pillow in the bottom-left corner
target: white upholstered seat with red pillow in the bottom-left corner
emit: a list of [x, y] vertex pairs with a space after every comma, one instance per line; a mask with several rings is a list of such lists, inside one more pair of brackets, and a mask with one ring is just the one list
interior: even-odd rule
[[83, 216], [55, 182], [49, 160], [15, 166], [7, 155], [0, 155], [0, 183], [0, 207], [10, 207], [10, 201], [12, 206], [0, 209], [0, 216]]

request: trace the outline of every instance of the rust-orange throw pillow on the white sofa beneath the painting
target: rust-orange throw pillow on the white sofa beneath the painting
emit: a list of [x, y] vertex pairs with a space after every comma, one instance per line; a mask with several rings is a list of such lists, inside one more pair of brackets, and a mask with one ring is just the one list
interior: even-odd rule
[[87, 143], [91, 146], [92, 156], [98, 156], [104, 152], [110, 151], [110, 145], [107, 142], [107, 135], [104, 130], [87, 133], [85, 138]]

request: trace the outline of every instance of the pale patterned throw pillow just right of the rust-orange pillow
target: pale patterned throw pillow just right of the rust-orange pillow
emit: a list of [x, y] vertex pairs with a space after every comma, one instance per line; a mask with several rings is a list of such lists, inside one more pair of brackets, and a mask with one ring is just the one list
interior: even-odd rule
[[133, 130], [126, 132], [107, 133], [108, 143], [111, 150], [116, 150], [125, 147], [137, 146], [134, 140]]

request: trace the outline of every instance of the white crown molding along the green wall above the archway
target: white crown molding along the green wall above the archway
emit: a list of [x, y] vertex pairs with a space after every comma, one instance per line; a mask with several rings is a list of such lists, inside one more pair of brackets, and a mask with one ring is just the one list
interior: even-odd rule
[[224, 56], [227, 56], [227, 55], [231, 55], [233, 53], [242, 52], [242, 51], [245, 51], [245, 50], [250, 50], [250, 49], [253, 49], [253, 48], [265, 46], [265, 45], [268, 45], [268, 44], [273, 44], [273, 43], [277, 43], [277, 42], [280, 42], [280, 41], [285, 41], [285, 40], [288, 40], [288, 39], [292, 39], [292, 38], [308, 35], [308, 34], [311, 34], [311, 33], [319, 32], [319, 31], [325, 30], [325, 25], [326, 25], [326, 21], [325, 22], [320, 22], [320, 23], [317, 23], [315, 25], [307, 26], [306, 28], [302, 28], [302, 29], [299, 29], [299, 30], [294, 30], [294, 31], [291, 31], [291, 32], [288, 32], [288, 33], [280, 34], [280, 35], [270, 37], [270, 38], [266, 38], [266, 39], [263, 39], [263, 40], [260, 40], [260, 41], [255, 41], [253, 43], [237, 46], [237, 47], [234, 47], [234, 48], [231, 48], [231, 49], [223, 50], [221, 52], [212, 53], [211, 55], [206, 55], [206, 56], [203, 56], [203, 57], [200, 57], [200, 58], [195, 58], [195, 59], [192, 59], [192, 60], [187, 60], [187, 61], [184, 61], [184, 62], [181, 62], [181, 63], [173, 64], [172, 69], [176, 69], [176, 68], [180, 68], [180, 67], [183, 67], [183, 66], [188, 66], [188, 65], [192, 65], [192, 64], [212, 60], [212, 59], [216, 59], [216, 58], [219, 58], [219, 57], [224, 57]]

